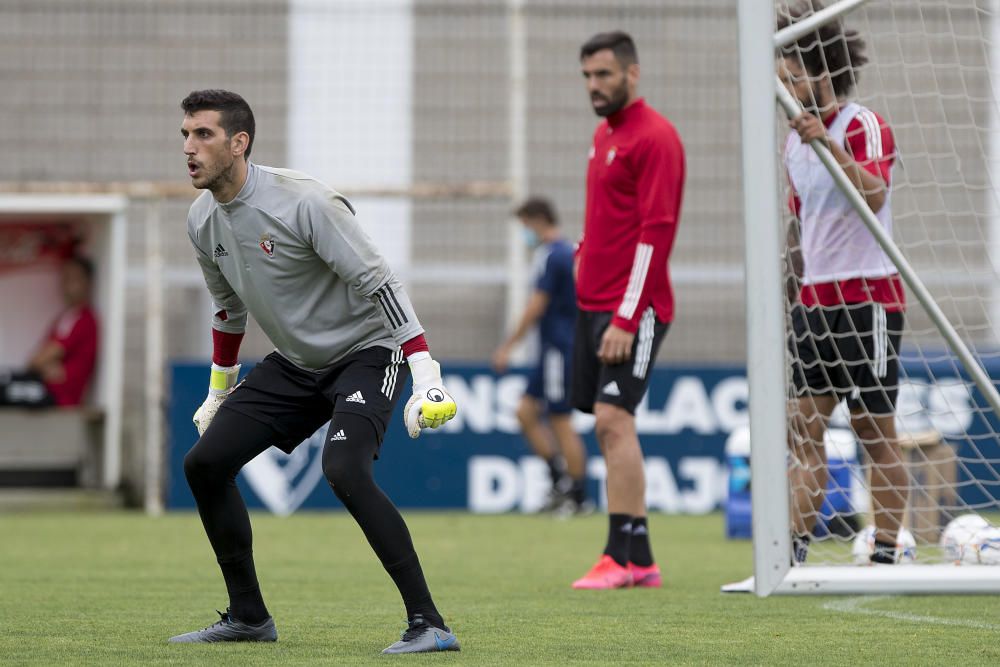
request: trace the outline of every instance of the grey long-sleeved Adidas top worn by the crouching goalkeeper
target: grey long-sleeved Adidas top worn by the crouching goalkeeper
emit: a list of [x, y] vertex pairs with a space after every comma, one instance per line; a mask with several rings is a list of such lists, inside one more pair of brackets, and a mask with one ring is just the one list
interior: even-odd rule
[[301, 368], [423, 333], [354, 208], [310, 176], [250, 163], [231, 202], [208, 191], [195, 200], [188, 235], [212, 295], [212, 327], [242, 333], [249, 311]]

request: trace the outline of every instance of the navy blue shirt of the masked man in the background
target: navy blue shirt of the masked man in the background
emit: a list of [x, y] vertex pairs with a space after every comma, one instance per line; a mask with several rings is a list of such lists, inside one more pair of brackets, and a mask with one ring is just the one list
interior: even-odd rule
[[538, 323], [542, 346], [573, 346], [576, 327], [576, 288], [573, 285], [573, 246], [563, 239], [535, 250], [535, 289], [549, 295], [549, 306]]

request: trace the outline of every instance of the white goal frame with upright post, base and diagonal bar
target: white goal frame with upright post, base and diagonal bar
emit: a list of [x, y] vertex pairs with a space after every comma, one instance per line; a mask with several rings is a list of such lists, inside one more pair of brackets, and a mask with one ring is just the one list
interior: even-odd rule
[[[1000, 592], [1000, 566], [959, 567], [954, 563], [923, 564], [919, 561], [888, 567], [826, 563], [792, 567], [790, 564], [791, 507], [786, 473], [786, 405], [789, 394], [786, 390], [788, 359], [782, 273], [785, 235], [782, 222], [784, 216], [780, 212], [779, 203], [780, 194], [785, 188], [777, 159], [774, 96], [783, 115], [796, 116], [801, 112], [801, 107], [780, 80], [775, 78], [775, 49], [791, 44], [814, 31], [817, 26], [838, 20], [865, 4], [869, 4], [868, 0], [832, 2], [826, 10], [775, 34], [774, 0], [740, 0], [739, 3], [747, 374], [750, 387], [750, 438], [753, 443], [751, 474], [754, 480], [764, 480], [765, 483], [754, 483], [751, 487], [754, 576], [738, 584], [724, 586], [724, 592], [753, 592], [758, 596]], [[879, 2], [873, 0], [870, 4], [878, 5]], [[994, 14], [990, 20], [993, 23], [1000, 21], [1000, 15]], [[991, 46], [1000, 48], [1000, 44], [988, 45], [986, 48]], [[998, 113], [1000, 111], [997, 109], [992, 110], [994, 122]], [[889, 122], [891, 123], [891, 119]], [[937, 335], [943, 341], [942, 347], [946, 345], [950, 358], [954, 360], [953, 365], [958, 368], [960, 364], [961, 369], [971, 378], [969, 386], [974, 385], [981, 393], [988, 405], [986, 409], [991, 410], [994, 415], [1000, 414], [1000, 395], [980, 365], [977, 354], [969, 349], [962, 334], [948, 321], [917, 271], [910, 266], [891, 236], [884, 231], [829, 150], [819, 141], [813, 142], [813, 148], [886, 255], [896, 265], [908, 291], [916, 297], [926, 319], [939, 332]], [[990, 156], [983, 155], [983, 159], [987, 164], [993, 162]], [[988, 177], [987, 183], [989, 185]], [[986, 199], [989, 200], [990, 197], [987, 196]], [[995, 238], [983, 239], [986, 244], [991, 241], [997, 242]], [[995, 265], [993, 271], [996, 271]], [[972, 279], [971, 276], [969, 279]], [[997, 467], [995, 459], [986, 457], [983, 463], [991, 471]], [[956, 501], [955, 506], [948, 509], [952, 513], [959, 513], [963, 508], [961, 502]], [[997, 507], [977, 506], [969, 509], [996, 511]]]

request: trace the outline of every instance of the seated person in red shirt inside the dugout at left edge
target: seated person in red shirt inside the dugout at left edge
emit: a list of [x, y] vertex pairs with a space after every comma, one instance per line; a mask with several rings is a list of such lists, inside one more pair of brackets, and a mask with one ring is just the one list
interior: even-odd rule
[[0, 370], [0, 406], [80, 405], [97, 361], [97, 318], [90, 306], [94, 265], [73, 256], [61, 268], [66, 307], [25, 369]]

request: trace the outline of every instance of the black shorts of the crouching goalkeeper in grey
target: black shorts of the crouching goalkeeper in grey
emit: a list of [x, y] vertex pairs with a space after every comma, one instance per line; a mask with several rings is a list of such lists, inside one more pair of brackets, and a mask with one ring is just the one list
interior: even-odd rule
[[291, 453], [334, 412], [367, 417], [378, 441], [410, 375], [401, 349], [359, 350], [322, 371], [299, 368], [277, 352], [267, 355], [222, 404], [273, 427], [275, 447]]

